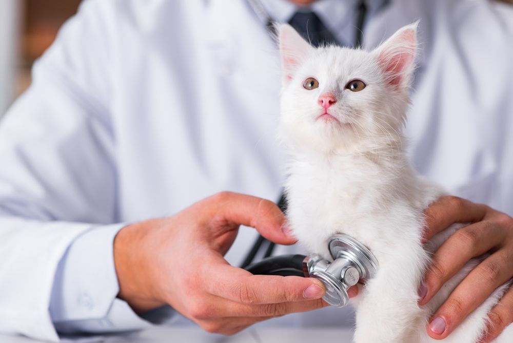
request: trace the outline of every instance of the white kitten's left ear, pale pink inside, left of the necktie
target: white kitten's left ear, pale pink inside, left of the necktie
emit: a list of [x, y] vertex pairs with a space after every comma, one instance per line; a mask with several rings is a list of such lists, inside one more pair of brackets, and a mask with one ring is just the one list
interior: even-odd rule
[[288, 24], [276, 26], [282, 58], [283, 81], [292, 79], [292, 74], [313, 49], [303, 37]]

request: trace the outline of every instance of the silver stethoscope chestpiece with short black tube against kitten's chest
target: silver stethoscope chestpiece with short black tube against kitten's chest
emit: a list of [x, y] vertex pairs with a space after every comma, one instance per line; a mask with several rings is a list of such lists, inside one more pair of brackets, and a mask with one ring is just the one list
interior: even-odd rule
[[333, 261], [321, 255], [283, 255], [266, 258], [246, 268], [260, 275], [300, 275], [321, 280], [326, 287], [323, 299], [332, 306], [346, 306], [347, 290], [365, 283], [378, 270], [378, 260], [365, 245], [349, 235], [337, 234], [328, 240]]

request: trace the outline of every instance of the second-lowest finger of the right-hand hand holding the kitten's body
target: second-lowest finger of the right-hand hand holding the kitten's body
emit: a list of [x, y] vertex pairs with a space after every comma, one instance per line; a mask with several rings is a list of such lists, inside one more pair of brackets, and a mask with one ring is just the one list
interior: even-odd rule
[[[428, 326], [429, 335], [435, 339], [443, 339], [456, 329], [470, 312], [511, 278], [508, 263], [510, 257], [506, 253], [498, 252], [473, 269], [433, 315]], [[477, 284], [480, 287], [476, 287]]]

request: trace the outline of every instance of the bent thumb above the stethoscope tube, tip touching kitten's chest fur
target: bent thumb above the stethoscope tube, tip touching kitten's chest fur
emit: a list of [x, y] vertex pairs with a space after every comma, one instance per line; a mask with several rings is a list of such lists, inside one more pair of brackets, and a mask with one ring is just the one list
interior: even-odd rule
[[297, 241], [287, 230], [285, 215], [270, 200], [231, 192], [218, 193], [209, 200], [214, 203], [210, 210], [212, 220], [254, 227], [262, 236], [278, 244]]

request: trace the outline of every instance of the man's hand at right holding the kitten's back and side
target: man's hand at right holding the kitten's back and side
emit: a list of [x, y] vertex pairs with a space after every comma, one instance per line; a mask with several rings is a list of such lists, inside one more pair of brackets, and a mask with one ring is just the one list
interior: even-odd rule
[[[444, 339], [480, 306], [492, 292], [513, 276], [513, 218], [494, 209], [457, 197], [444, 197], [426, 210], [425, 239], [453, 223], [471, 223], [445, 241], [433, 255], [419, 294], [427, 303], [442, 285], [454, 276], [468, 260], [490, 253], [456, 287], [432, 316], [427, 327], [429, 336]], [[506, 291], [489, 313], [490, 325], [483, 342], [495, 339], [513, 322], [513, 289]]]

